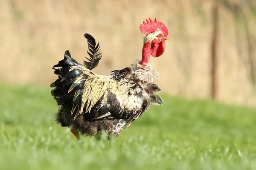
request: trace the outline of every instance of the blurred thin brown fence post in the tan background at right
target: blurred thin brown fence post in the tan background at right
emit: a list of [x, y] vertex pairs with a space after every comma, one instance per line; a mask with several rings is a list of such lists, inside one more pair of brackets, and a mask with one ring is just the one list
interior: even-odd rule
[[212, 40], [211, 40], [211, 98], [215, 99], [217, 94], [217, 41], [218, 41], [218, 4], [215, 2], [212, 7]]

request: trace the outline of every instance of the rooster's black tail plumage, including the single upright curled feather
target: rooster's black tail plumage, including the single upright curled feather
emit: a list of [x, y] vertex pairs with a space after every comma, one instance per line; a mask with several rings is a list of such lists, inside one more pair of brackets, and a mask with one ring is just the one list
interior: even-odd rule
[[[90, 34], [84, 34], [87, 39], [89, 57], [85, 57], [88, 61], [84, 61], [84, 66], [87, 69], [92, 70], [99, 64], [99, 60], [102, 58], [99, 43], [96, 44], [95, 39]], [[65, 118], [64, 111], [68, 111], [70, 114], [79, 109], [82, 101], [82, 94], [84, 91], [84, 81], [88, 78], [88, 75], [84, 74], [81, 69], [70, 69], [73, 66], [80, 66], [81, 64], [71, 57], [70, 52], [67, 50], [64, 54], [64, 59], [53, 66], [54, 74], [58, 75], [58, 79], [53, 82], [50, 87], [54, 88], [51, 91], [52, 96], [56, 100], [58, 105], [61, 105], [61, 109], [56, 116], [57, 123], [61, 123], [62, 126], [68, 126], [69, 121]], [[79, 80], [78, 80], [79, 79]], [[78, 80], [78, 81], [77, 81]], [[75, 114], [73, 115], [75, 116]]]

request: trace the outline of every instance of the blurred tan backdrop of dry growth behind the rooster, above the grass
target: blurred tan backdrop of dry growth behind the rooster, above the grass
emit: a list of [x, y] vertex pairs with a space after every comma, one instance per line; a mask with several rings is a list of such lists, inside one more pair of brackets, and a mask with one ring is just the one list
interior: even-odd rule
[[95, 73], [124, 68], [141, 58], [140, 24], [156, 17], [170, 38], [151, 58], [163, 92], [256, 106], [255, 0], [1, 0], [0, 11], [4, 84], [49, 87], [64, 51], [87, 56], [84, 33], [101, 45]]

